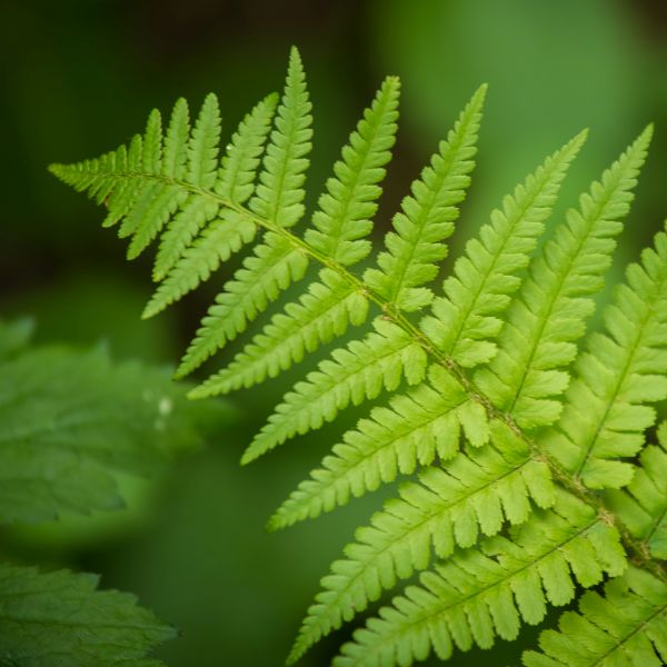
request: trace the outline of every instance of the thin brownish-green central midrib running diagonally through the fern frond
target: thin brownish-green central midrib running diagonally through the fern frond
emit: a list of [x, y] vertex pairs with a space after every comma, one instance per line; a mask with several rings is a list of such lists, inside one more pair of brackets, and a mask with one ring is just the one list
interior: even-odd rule
[[[51, 168], [53, 171], [57, 171], [53, 167]], [[196, 186], [193, 183], [187, 182], [182, 179], [173, 179], [163, 175], [156, 173], [146, 173], [141, 171], [128, 171], [128, 172], [118, 172], [118, 171], [107, 171], [103, 175], [98, 171], [91, 171], [86, 169], [77, 169], [79, 175], [86, 175], [92, 178], [115, 178], [118, 180], [122, 180], [126, 178], [137, 178], [143, 180], [153, 180], [163, 182], [170, 186], [177, 186], [182, 188], [183, 190], [199, 195], [201, 197], [208, 197], [213, 199], [221, 206], [230, 208], [238, 213], [248, 217], [259, 227], [270, 230], [277, 235], [286, 238], [290, 243], [296, 246], [302, 252], [309, 255], [312, 259], [320, 262], [321, 265], [328, 267], [332, 271], [339, 275], [339, 277], [347, 283], [349, 283], [356, 291], [358, 291], [364, 297], [368, 298], [370, 301], [376, 303], [379, 309], [384, 312], [384, 316], [391, 320], [395, 325], [402, 328], [409, 336], [411, 336], [415, 341], [424, 348], [427, 355], [435, 358], [435, 360], [442, 366], [450, 375], [452, 375], [462, 386], [464, 390], [468, 395], [468, 397], [476, 402], [480, 404], [489, 419], [497, 419], [505, 424], [519, 439], [521, 439], [537, 458], [537, 460], [544, 461], [550, 469], [554, 477], [574, 496], [579, 498], [581, 501], [586, 502], [590, 507], [593, 507], [598, 515], [603, 516], [607, 522], [615, 525], [621, 536], [621, 540], [628, 551], [630, 551], [630, 556], [635, 559], [639, 567], [648, 569], [656, 578], [658, 578], [664, 584], [667, 584], [667, 571], [663, 567], [663, 565], [656, 560], [653, 560], [647, 557], [645, 549], [643, 548], [643, 541], [638, 541], [633, 537], [630, 531], [623, 525], [620, 519], [605, 506], [604, 501], [599, 498], [597, 494], [587, 489], [576, 477], [570, 475], [567, 470], [565, 470], [560, 464], [558, 464], [551, 456], [544, 452], [538, 445], [527, 435], [524, 430], [518, 426], [516, 420], [511, 415], [500, 411], [498, 408], [494, 406], [491, 400], [480, 391], [475, 382], [468, 378], [464, 369], [459, 364], [456, 362], [455, 359], [449, 357], [448, 355], [441, 352], [437, 349], [437, 347], [432, 344], [432, 341], [420, 331], [417, 326], [415, 326], [410, 320], [408, 320], [399, 309], [396, 308], [395, 305], [386, 301], [380, 296], [370, 290], [361, 279], [357, 278], [355, 275], [349, 272], [338, 261], [327, 257], [322, 252], [312, 248], [308, 242], [299, 238], [298, 236], [291, 233], [288, 229], [281, 227], [273, 220], [267, 220], [257, 213], [253, 213], [251, 210], [236, 203], [225, 197], [221, 197], [217, 192], [201, 188], [200, 186]]]

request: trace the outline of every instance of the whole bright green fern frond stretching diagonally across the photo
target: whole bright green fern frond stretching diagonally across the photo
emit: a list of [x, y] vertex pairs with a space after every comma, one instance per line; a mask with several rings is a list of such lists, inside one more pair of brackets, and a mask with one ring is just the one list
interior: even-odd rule
[[[350, 325], [364, 334], [297, 382], [243, 462], [378, 399], [270, 520], [313, 518], [409, 476], [357, 530], [321, 581], [289, 661], [418, 574], [357, 629], [338, 667], [411, 665], [488, 648], [571, 603], [528, 666], [667, 660], [667, 434], [645, 447], [667, 398], [667, 233], [631, 263], [586, 332], [651, 136], [648, 127], [545, 235], [581, 132], [519, 183], [434, 286], [470, 185], [486, 88], [465, 107], [411, 185], [384, 248], [362, 272], [391, 157], [399, 81], [387, 78], [334, 165], [305, 231], [311, 104], [291, 51], [280, 99], [241, 121], [221, 159], [220, 112], [193, 127], [179, 100], [162, 131], [99, 159], [53, 166], [104, 203], [136, 257], [155, 239], [156, 315], [248, 248], [202, 319], [182, 377], [288, 287], [301, 293], [192, 391], [227, 394], [272, 378]], [[309, 265], [317, 278], [305, 280]], [[653, 431], [649, 431], [653, 432]], [[653, 435], [650, 436], [653, 438]], [[576, 647], [576, 650], [575, 648]]]

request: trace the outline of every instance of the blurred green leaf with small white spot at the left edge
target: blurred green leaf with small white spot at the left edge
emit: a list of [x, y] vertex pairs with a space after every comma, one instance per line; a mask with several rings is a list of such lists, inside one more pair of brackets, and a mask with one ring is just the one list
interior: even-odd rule
[[166, 369], [96, 349], [37, 348], [0, 364], [0, 522], [122, 506], [115, 471], [149, 475], [200, 442]]

